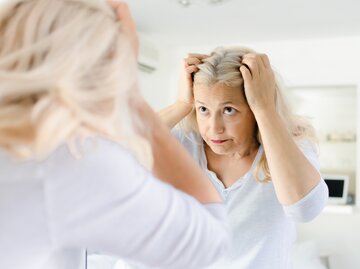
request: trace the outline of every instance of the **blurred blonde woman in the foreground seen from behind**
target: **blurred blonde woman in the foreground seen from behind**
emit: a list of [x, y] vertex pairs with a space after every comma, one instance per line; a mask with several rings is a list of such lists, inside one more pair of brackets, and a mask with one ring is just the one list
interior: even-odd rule
[[198, 268], [227, 248], [220, 196], [139, 95], [135, 26], [110, 4], [0, 9], [0, 268], [84, 268], [85, 248]]

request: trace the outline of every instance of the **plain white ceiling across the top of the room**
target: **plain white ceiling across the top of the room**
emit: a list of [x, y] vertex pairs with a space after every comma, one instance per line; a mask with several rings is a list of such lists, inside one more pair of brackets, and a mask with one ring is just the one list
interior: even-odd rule
[[170, 45], [360, 37], [358, 0], [127, 0], [139, 32]]

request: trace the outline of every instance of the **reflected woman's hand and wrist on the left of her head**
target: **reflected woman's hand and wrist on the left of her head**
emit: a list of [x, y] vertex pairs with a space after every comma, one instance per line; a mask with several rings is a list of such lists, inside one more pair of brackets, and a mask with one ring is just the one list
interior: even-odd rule
[[198, 65], [208, 57], [205, 54], [188, 54], [183, 60], [183, 67], [180, 74], [177, 103], [191, 106], [194, 105], [193, 74], [199, 71]]

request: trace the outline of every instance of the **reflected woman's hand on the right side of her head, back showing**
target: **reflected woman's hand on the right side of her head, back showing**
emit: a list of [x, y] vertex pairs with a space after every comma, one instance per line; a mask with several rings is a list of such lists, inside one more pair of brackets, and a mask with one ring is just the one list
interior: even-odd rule
[[265, 54], [248, 53], [242, 57], [240, 72], [245, 96], [252, 112], [275, 109], [275, 76]]

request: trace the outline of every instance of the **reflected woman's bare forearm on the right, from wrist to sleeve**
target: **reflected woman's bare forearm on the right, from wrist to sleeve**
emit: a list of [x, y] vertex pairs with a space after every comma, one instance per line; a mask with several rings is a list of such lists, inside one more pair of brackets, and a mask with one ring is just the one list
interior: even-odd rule
[[309, 193], [321, 177], [275, 110], [255, 113], [255, 117], [277, 197], [283, 205], [293, 204]]

